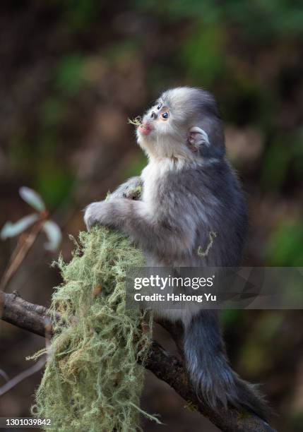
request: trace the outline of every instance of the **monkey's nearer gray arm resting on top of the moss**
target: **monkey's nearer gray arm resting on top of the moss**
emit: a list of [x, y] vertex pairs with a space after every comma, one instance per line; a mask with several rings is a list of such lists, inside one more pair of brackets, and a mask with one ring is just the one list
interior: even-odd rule
[[95, 224], [121, 229], [138, 246], [159, 255], [184, 253], [194, 243], [190, 224], [177, 224], [164, 217], [155, 220], [148, 206], [141, 200], [114, 198], [92, 203], [85, 209], [84, 221], [90, 229]]

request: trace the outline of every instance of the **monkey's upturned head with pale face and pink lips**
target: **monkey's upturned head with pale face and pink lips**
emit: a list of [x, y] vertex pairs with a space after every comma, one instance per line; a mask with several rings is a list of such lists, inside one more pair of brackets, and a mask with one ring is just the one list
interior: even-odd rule
[[141, 148], [153, 157], [195, 160], [225, 155], [222, 122], [210, 93], [189, 87], [163, 92], [137, 128]]

